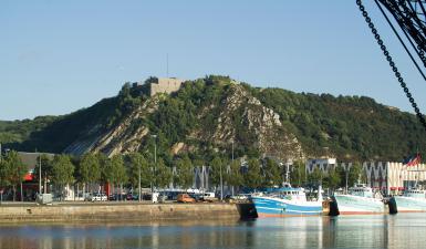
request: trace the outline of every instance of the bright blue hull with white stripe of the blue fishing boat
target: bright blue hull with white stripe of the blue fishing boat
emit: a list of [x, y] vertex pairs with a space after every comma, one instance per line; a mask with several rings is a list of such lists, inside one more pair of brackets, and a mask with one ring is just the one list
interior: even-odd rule
[[294, 201], [274, 197], [252, 197], [259, 217], [319, 216], [321, 201]]

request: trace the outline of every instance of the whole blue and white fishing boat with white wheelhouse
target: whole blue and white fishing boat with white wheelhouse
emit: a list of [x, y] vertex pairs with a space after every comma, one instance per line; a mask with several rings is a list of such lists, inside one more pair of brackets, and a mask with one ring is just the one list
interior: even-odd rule
[[259, 217], [322, 215], [322, 198], [310, 201], [303, 188], [284, 183], [281, 188], [268, 189], [251, 196]]

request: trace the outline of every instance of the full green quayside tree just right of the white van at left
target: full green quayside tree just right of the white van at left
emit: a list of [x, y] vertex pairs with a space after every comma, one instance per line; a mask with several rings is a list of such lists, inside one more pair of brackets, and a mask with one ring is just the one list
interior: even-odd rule
[[61, 189], [74, 181], [74, 165], [67, 155], [55, 155], [52, 160], [52, 184]]

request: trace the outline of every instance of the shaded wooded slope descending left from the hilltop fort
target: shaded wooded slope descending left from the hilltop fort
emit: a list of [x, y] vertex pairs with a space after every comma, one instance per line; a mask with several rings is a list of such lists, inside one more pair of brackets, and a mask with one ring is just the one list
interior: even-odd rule
[[103, 98], [71, 114], [0, 122], [0, 143], [18, 151], [62, 153], [81, 137], [97, 136], [114, 127], [141, 101], [138, 93], [126, 83], [117, 96]]

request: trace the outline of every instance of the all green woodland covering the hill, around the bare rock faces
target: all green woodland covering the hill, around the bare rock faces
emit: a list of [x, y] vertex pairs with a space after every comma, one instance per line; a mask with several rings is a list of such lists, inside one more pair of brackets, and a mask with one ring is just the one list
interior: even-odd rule
[[[147, 127], [149, 132], [141, 139], [138, 151], [153, 151], [150, 135], [155, 134], [158, 156], [166, 165], [174, 157], [172, 148], [179, 143], [184, 144], [181, 152], [211, 159], [214, 152], [230, 154], [230, 138], [236, 157], [259, 157], [258, 131], [248, 128], [258, 123], [248, 118], [253, 113], [263, 115], [267, 107], [279, 114], [282, 124], [273, 126], [273, 137], [267, 138], [294, 136], [306, 157], [401, 160], [426, 148], [424, 131], [414, 115], [370, 97], [257, 89], [246, 83], [237, 85], [228, 76], [206, 76], [187, 81], [176, 93], [155, 96], [155, 110], [146, 112], [141, 106], [153, 98], [144, 91], [144, 86], [126, 83], [117, 96], [69, 115], [0, 122], [0, 143], [19, 151], [61, 153], [74, 142], [98, 137], [121, 126], [135, 112], [143, 112], [134, 115], [137, 120], [131, 122], [127, 134]], [[229, 104], [238, 97], [238, 105]], [[252, 97], [260, 104], [250, 104]]]

